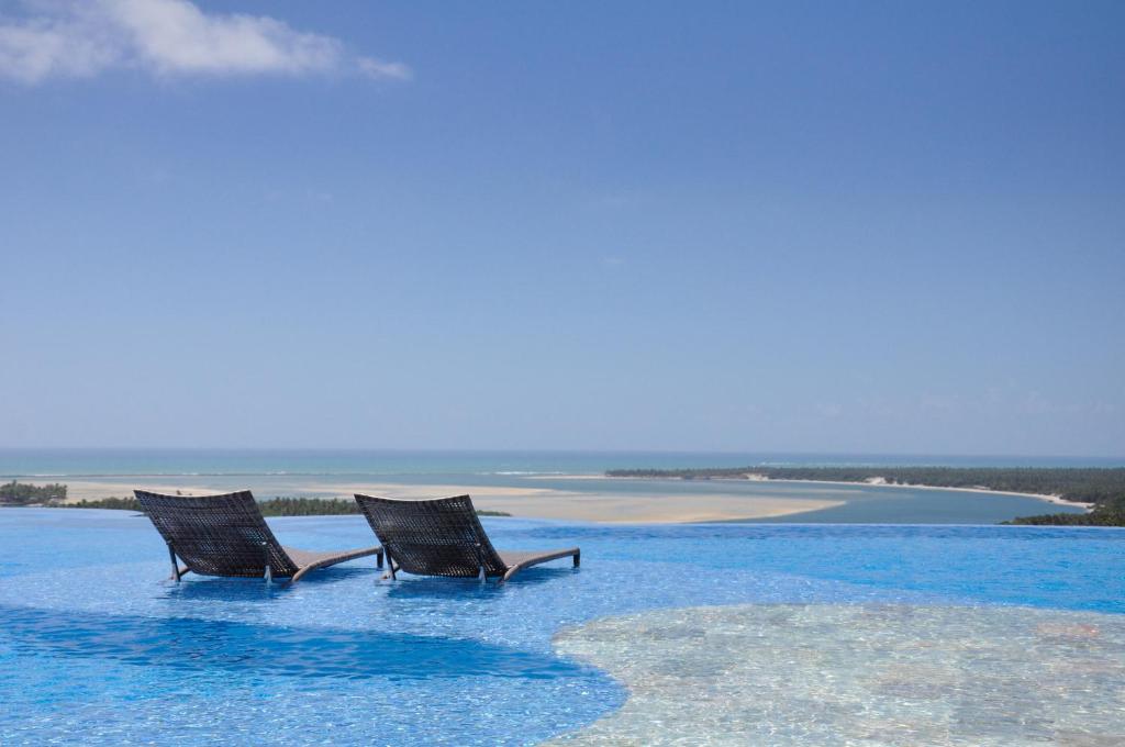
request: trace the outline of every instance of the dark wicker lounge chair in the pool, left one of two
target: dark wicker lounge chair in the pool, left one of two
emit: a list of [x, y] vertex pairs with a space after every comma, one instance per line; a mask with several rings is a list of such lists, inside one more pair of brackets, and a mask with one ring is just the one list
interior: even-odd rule
[[[227, 495], [160, 495], [134, 490], [156, 526], [172, 559], [172, 578], [194, 570], [202, 576], [251, 576], [271, 580], [289, 576], [290, 583], [310, 570], [369, 555], [382, 567], [382, 548], [343, 552], [309, 552], [281, 547], [273, 537], [250, 490]], [[187, 567], [181, 568], [177, 556]]]

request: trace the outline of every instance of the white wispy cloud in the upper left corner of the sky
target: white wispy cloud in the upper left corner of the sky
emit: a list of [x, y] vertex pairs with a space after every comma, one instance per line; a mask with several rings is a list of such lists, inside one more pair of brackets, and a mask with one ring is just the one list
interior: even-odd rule
[[267, 16], [207, 14], [189, 0], [25, 0], [0, 17], [0, 78], [37, 83], [111, 68], [155, 75], [305, 75], [354, 72], [408, 80], [399, 62], [357, 56], [330, 36]]

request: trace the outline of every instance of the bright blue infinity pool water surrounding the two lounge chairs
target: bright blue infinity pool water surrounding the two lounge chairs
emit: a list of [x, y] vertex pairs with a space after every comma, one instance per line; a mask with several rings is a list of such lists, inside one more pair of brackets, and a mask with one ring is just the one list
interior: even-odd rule
[[[359, 516], [270, 523], [309, 549], [371, 540]], [[618, 680], [552, 644], [601, 618], [747, 604], [1125, 613], [1125, 530], [485, 525], [498, 547], [579, 544], [583, 567], [482, 586], [382, 582], [363, 559], [294, 586], [176, 585], [144, 518], [0, 511], [0, 744], [536, 744], [626, 703]]]

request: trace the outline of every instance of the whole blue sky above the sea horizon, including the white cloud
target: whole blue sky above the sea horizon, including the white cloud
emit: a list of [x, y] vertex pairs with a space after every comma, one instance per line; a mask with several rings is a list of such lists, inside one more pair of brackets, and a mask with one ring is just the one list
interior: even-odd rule
[[1125, 456], [1125, 4], [0, 0], [0, 447]]

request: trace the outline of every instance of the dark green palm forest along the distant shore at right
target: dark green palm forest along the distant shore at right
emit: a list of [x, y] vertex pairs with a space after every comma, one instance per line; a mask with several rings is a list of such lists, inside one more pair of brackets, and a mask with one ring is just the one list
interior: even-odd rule
[[734, 467], [714, 469], [611, 469], [606, 477], [773, 479], [969, 487], [1055, 495], [1088, 503], [1088, 514], [1046, 514], [1012, 524], [1125, 526], [1125, 468], [1084, 467]]

